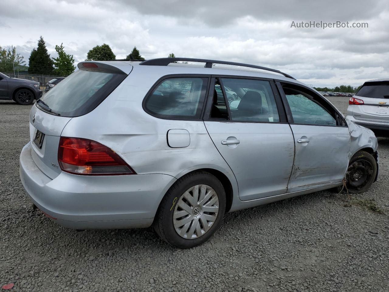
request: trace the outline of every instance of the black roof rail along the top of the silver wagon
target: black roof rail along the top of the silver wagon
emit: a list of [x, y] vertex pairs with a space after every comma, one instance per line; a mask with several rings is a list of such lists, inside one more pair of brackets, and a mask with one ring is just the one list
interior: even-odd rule
[[293, 78], [289, 74], [286, 74], [284, 72], [281, 72], [280, 70], [268, 68], [268, 67], [262, 67], [257, 65], [251, 65], [251, 64], [245, 64], [245, 63], [237, 63], [237, 62], [226, 62], [226, 61], [218, 61], [218, 60], [208, 60], [208, 59], [196, 59], [196, 58], [157, 58], [157, 59], [150, 59], [145, 60], [141, 62], [139, 65], [149, 65], [149, 66], [167, 66], [170, 63], [177, 62], [177, 61], [188, 61], [188, 62], [202, 62], [205, 63], [205, 68], [212, 68], [212, 64], [224, 64], [224, 65], [235, 65], [235, 66], [242, 66], [242, 67], [250, 67], [250, 68], [256, 68], [256, 69], [262, 69], [266, 71], [276, 72], [284, 75], [288, 78]]

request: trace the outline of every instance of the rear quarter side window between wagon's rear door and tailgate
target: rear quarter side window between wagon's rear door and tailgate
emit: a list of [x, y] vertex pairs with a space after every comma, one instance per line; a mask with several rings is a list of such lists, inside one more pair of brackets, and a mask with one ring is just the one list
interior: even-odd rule
[[165, 79], [147, 97], [144, 107], [159, 118], [200, 119], [207, 81], [203, 77]]

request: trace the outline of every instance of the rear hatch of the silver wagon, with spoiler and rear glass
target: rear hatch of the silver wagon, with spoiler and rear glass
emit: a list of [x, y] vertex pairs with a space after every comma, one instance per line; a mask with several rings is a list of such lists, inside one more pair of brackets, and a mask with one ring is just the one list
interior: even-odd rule
[[76, 116], [93, 111], [130, 74], [124, 62], [81, 62], [77, 70], [35, 102], [30, 111], [32, 158], [54, 179], [61, 173], [58, 145], [63, 128]]

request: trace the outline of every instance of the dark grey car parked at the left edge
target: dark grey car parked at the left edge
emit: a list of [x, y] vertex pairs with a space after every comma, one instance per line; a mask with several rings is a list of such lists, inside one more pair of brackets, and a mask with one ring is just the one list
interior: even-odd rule
[[28, 105], [41, 96], [39, 82], [12, 78], [0, 73], [0, 100], [14, 100], [18, 104]]

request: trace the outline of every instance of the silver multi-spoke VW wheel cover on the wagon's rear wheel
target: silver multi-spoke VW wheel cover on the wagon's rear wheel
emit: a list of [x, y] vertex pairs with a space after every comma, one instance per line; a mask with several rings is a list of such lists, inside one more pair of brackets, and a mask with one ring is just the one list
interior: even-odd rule
[[214, 224], [219, 212], [219, 197], [208, 185], [195, 185], [186, 190], [174, 207], [173, 225], [179, 236], [195, 239]]

